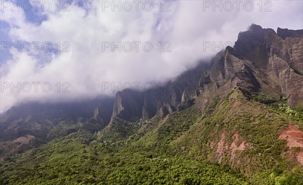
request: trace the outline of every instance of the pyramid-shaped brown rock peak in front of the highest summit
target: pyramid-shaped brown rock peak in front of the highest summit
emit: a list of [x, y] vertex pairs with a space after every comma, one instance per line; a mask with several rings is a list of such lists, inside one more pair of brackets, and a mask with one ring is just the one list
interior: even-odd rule
[[234, 86], [249, 95], [260, 88], [251, 65], [235, 49], [227, 47], [224, 54], [219, 53], [215, 57], [212, 69], [201, 76], [199, 87], [208, 91], [210, 100], [215, 96], [224, 97]]

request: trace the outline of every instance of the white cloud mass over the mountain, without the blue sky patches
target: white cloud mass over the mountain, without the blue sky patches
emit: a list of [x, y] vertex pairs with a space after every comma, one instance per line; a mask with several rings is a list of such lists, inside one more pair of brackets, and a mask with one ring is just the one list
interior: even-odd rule
[[[302, 29], [301, 1], [271, 1], [269, 10], [272, 12], [264, 12], [269, 5], [263, 5], [260, 12], [260, 2], [251, 2], [254, 3], [251, 12], [243, 9], [245, 2], [240, 5], [239, 12], [236, 7], [231, 12], [224, 9], [220, 12], [219, 8], [215, 12], [212, 8], [203, 11], [206, 1], [173, 1], [169, 8], [171, 12], [159, 12], [156, 1], [150, 12], [142, 10], [142, 6], [137, 12], [134, 4], [131, 12], [119, 12], [117, 8], [114, 12], [110, 8], [103, 11], [102, 1], [84, 1], [81, 7], [77, 4], [68, 7], [70, 12], [58, 12], [52, 2], [52, 11], [39, 13], [47, 16], [40, 25], [27, 21], [22, 11], [16, 13], [5, 9], [1, 12], [1, 21], [10, 23], [11, 40], [60, 41], [61, 50], [67, 46], [62, 43], [67, 41], [70, 52], [53, 54], [41, 49], [38, 52], [32, 49], [29, 53], [12, 52], [13, 59], [5, 64], [2, 62], [2, 82], [49, 82], [53, 88], [48, 93], [39, 88], [38, 92], [21, 90], [20, 93], [17, 89], [14, 92], [3, 89], [1, 112], [25, 101], [95, 97], [103, 93], [102, 82], [166, 81], [218, 52], [218, 49], [204, 52], [204, 41], [234, 42], [238, 32], [246, 30], [251, 23], [273, 29]], [[129, 53], [117, 49], [116, 52], [111, 49], [103, 52], [103, 41], [116, 44], [119, 41], [150, 41], [153, 51], [144, 52], [140, 44], [139, 52], [135, 52], [135, 48]], [[159, 52], [156, 45], [159, 41], [162, 44], [170, 42], [171, 52]], [[162, 50], [164, 48], [162, 45]], [[69, 82], [71, 92], [58, 93], [57, 82], [61, 82], [60, 91], [62, 83]]]

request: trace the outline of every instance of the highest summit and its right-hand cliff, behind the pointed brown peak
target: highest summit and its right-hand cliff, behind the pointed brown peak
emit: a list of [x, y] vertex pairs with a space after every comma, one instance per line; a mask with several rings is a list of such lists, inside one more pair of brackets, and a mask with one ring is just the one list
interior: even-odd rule
[[252, 24], [248, 31], [239, 33], [235, 45], [236, 51], [257, 68], [262, 87], [276, 94], [286, 94], [291, 107], [302, 106], [302, 38], [303, 30], [278, 28], [276, 33]]

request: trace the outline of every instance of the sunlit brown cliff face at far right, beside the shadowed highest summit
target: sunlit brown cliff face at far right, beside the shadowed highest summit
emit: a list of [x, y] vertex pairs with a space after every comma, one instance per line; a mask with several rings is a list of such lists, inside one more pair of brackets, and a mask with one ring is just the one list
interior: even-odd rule
[[[287, 30], [286, 33], [296, 35], [298, 31]], [[282, 39], [274, 32], [267, 32], [265, 40], [269, 48], [269, 63], [280, 82], [281, 91], [287, 96], [288, 105], [303, 106], [299, 105], [303, 100], [303, 38]]]

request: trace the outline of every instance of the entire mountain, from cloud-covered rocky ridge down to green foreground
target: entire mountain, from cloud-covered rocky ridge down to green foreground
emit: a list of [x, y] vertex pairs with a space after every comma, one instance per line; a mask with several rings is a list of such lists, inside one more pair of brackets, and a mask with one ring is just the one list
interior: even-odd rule
[[[165, 90], [15, 107], [2, 117], [0, 182], [303, 184], [302, 31], [252, 24]], [[38, 132], [10, 133], [27, 121]]]

